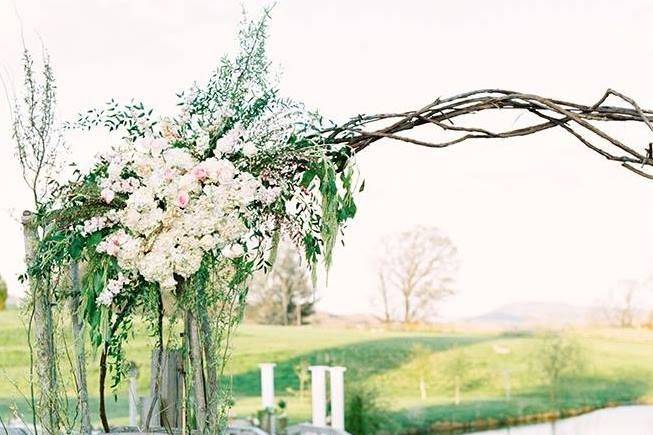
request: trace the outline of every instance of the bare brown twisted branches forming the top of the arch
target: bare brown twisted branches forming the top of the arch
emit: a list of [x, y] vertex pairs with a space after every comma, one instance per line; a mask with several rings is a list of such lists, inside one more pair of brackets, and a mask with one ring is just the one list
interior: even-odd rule
[[[616, 99], [619, 105], [606, 104]], [[464, 121], [479, 112], [514, 110], [528, 113], [531, 120], [525, 127], [492, 131]], [[454, 121], [461, 121], [460, 125]], [[653, 111], [642, 109], [633, 99], [608, 89], [593, 105], [545, 98], [503, 89], [481, 89], [449, 98], [438, 98], [414, 111], [359, 115], [346, 123], [323, 131], [329, 143], [343, 143], [355, 152], [362, 151], [382, 138], [390, 138], [428, 148], [445, 148], [469, 139], [497, 139], [529, 136], [560, 127], [590, 150], [604, 158], [620, 162], [637, 175], [653, 179], [645, 171], [653, 166], [652, 145], [631, 146], [605, 130], [607, 123], [635, 122], [653, 132]], [[420, 126], [435, 126], [456, 134], [443, 142], [417, 139], [405, 133]]]

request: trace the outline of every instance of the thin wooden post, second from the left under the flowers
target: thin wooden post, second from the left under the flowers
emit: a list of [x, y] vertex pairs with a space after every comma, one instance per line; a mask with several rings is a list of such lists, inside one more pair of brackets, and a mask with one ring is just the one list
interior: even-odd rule
[[77, 377], [77, 400], [81, 417], [81, 430], [83, 434], [90, 434], [91, 418], [88, 409], [88, 385], [86, 382], [86, 350], [84, 347], [84, 333], [82, 321], [79, 318], [79, 265], [76, 261], [70, 264], [70, 322], [73, 328], [73, 347], [75, 350], [75, 376]]

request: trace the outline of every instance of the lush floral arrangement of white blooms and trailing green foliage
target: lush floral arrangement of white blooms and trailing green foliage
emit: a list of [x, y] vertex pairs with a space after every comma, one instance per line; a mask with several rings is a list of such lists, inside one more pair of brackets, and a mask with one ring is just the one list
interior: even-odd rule
[[[248, 279], [274, 262], [280, 234], [315, 271], [320, 257], [330, 264], [340, 227], [356, 212], [352, 152], [325, 143], [322, 119], [278, 95], [265, 27], [265, 19], [244, 25], [240, 54], [181, 93], [177, 115], [112, 101], [71, 125], [123, 137], [42, 204], [29, 276], [51, 279], [71, 261], [83, 264], [84, 318], [114, 385], [131, 319], [141, 314], [160, 348], [164, 313], [171, 323], [197, 319], [206, 366], [195, 369], [217, 378]], [[225, 403], [205, 394], [209, 408]], [[207, 427], [219, 424], [213, 414]]]

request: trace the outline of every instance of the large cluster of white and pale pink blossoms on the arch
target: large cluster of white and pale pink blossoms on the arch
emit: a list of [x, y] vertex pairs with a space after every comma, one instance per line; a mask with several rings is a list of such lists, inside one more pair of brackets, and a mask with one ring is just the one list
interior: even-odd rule
[[[208, 146], [208, 134], [196, 137], [206, 141], [196, 148]], [[217, 140], [214, 156], [201, 161], [165, 138], [114, 147], [104, 156], [107, 171], [99, 186], [102, 200], [116, 208], [111, 218], [86, 221], [81, 232], [91, 234], [115, 222], [117, 230], [97, 251], [115, 257], [127, 274], [138, 273], [168, 291], [177, 285], [175, 275], [187, 278], [197, 272], [207, 251], [232, 259], [245, 255], [252, 237], [247, 226], [252, 204], [272, 204], [281, 189], [264, 186], [229, 160], [236, 152], [256, 152], [242, 137], [240, 127], [234, 127]], [[112, 280], [98, 302], [111, 304], [127, 282], [122, 275]]]

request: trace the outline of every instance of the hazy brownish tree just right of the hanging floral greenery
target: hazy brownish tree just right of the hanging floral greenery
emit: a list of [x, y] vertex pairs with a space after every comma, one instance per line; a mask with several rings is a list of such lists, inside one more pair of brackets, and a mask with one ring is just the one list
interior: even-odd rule
[[250, 311], [262, 323], [302, 325], [315, 301], [307, 267], [290, 243], [279, 246], [272, 270], [258, 272], [250, 284]]

